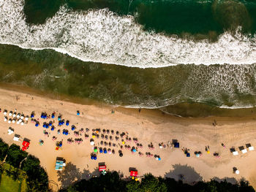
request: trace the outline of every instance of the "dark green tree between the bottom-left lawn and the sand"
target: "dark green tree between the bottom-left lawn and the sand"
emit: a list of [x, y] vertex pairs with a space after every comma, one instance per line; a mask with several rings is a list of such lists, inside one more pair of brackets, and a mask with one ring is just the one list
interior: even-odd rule
[[28, 155], [21, 169], [27, 174], [27, 183], [29, 191], [47, 191], [48, 190], [48, 174], [45, 169], [40, 166], [40, 161], [34, 155]]

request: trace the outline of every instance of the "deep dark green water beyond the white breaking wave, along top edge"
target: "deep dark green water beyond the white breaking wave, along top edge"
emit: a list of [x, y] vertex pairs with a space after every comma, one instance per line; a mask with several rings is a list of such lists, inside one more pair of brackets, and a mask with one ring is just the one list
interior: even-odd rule
[[243, 27], [255, 33], [256, 2], [253, 0], [25, 0], [28, 23], [45, 23], [61, 5], [74, 10], [108, 8], [118, 15], [133, 15], [146, 30], [217, 39], [225, 30]]

